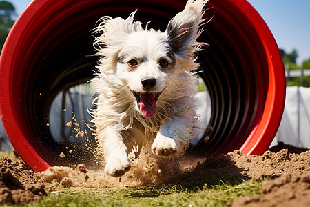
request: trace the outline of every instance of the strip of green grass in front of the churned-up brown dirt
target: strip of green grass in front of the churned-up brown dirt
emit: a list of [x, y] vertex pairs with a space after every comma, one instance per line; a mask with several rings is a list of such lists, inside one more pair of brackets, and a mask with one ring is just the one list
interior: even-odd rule
[[[185, 184], [187, 186], [187, 184]], [[261, 193], [261, 181], [185, 188], [181, 184], [125, 190], [62, 190], [23, 206], [225, 206], [241, 195]]]

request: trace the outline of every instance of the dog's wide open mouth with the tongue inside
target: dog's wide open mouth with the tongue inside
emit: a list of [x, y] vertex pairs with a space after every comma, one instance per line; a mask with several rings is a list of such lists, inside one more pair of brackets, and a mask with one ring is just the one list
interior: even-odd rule
[[134, 92], [141, 115], [145, 118], [152, 118], [156, 113], [156, 102], [161, 92]]

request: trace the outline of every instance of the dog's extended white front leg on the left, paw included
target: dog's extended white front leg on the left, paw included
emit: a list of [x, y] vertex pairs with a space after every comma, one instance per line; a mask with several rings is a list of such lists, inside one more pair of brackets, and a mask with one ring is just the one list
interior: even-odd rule
[[128, 152], [121, 134], [114, 130], [105, 131], [104, 135], [98, 135], [99, 139], [103, 138], [103, 152], [105, 157], [105, 172], [107, 175], [121, 177], [128, 170], [131, 164], [128, 159]]

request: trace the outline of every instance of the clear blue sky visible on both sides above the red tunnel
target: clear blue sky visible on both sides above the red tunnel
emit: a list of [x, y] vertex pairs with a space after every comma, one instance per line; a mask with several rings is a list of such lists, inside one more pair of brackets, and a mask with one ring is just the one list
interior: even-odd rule
[[[31, 0], [8, 1], [14, 4], [18, 14], [21, 14], [31, 2]], [[280, 48], [286, 52], [296, 49], [298, 63], [310, 58], [310, 0], [248, 1], [266, 21]]]

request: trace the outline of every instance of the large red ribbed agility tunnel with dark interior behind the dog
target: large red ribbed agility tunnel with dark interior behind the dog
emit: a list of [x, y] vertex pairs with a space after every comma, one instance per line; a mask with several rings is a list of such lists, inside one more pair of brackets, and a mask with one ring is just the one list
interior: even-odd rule
[[[12, 27], [1, 52], [0, 115], [14, 148], [30, 168], [83, 162], [61, 159], [67, 146], [54, 141], [48, 112], [56, 95], [92, 78], [96, 57], [90, 30], [103, 16], [127, 18], [161, 29], [183, 10], [180, 0], [34, 0]], [[285, 72], [276, 41], [245, 0], [210, 0], [199, 41], [200, 76], [211, 97], [209, 141], [200, 155], [240, 149], [261, 155], [278, 130], [285, 104]], [[87, 152], [76, 149], [81, 155]]]

